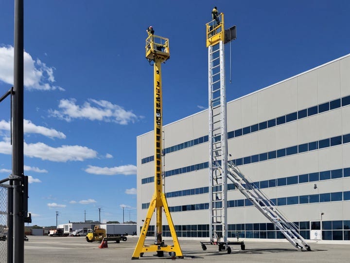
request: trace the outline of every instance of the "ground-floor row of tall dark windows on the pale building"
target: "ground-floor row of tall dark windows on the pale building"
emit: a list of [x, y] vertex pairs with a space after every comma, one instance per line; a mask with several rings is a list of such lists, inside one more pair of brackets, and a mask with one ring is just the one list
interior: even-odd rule
[[[310, 222], [294, 223], [299, 227], [300, 235], [305, 239], [310, 239], [310, 229], [313, 229], [310, 227]], [[177, 237], [209, 238], [209, 225], [175, 225], [174, 227]], [[227, 229], [228, 238], [284, 239], [283, 234], [276, 230], [272, 223], [228, 224]], [[322, 229], [322, 240], [350, 240], [350, 220], [323, 221]], [[154, 237], [154, 234], [155, 226], [150, 225], [146, 236]], [[171, 237], [169, 225], [162, 226], [162, 235]]]

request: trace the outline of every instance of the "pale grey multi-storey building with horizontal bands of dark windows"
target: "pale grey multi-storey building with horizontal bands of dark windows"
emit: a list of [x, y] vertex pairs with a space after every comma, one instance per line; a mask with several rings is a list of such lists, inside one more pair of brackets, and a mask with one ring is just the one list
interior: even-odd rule
[[[229, 160], [305, 239], [350, 240], [349, 72], [347, 55], [227, 102]], [[209, 239], [208, 119], [205, 110], [163, 127], [164, 193], [179, 238]], [[154, 174], [150, 131], [137, 137], [138, 234], [155, 190]], [[228, 238], [283, 238], [227, 184]], [[151, 221], [147, 235], [154, 231]], [[163, 236], [170, 236], [167, 225]]]

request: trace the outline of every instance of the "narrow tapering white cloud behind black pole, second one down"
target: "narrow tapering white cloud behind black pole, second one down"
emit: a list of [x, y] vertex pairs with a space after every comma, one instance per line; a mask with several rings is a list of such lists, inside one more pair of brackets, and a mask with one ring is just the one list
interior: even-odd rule
[[[10, 122], [5, 120], [0, 120], [0, 130], [10, 131]], [[24, 133], [37, 133], [50, 138], [65, 139], [66, 135], [61, 131], [56, 131], [54, 129], [49, 129], [43, 126], [37, 126], [30, 120], [23, 120], [23, 130]]]

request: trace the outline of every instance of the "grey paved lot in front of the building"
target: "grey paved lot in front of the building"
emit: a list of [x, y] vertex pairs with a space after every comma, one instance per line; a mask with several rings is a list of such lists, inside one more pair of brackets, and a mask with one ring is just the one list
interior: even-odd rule
[[[24, 244], [24, 262], [26, 263], [101, 263], [101, 262], [135, 262], [131, 260], [138, 237], [129, 236], [126, 242], [117, 244], [108, 242], [108, 248], [98, 248], [100, 243], [88, 243], [85, 237], [48, 237], [29, 236]], [[207, 241], [207, 240], [203, 240]], [[218, 251], [217, 245], [209, 245], [203, 251], [199, 241], [179, 240], [183, 259], [175, 261], [186, 262], [317, 262], [336, 263], [349, 262], [349, 244], [315, 244], [311, 243], [312, 251], [299, 252], [287, 243], [277, 242], [245, 242], [245, 250], [240, 246], [232, 246], [231, 254]], [[152, 244], [146, 240], [145, 244]], [[172, 244], [172, 241], [165, 241]], [[170, 262], [171, 257], [166, 255], [158, 258], [154, 253], [145, 253], [139, 261]]]

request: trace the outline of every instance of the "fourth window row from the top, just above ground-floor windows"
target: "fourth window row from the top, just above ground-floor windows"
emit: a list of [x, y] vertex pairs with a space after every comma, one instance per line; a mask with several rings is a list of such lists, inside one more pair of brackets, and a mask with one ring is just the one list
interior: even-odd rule
[[[332, 193], [321, 193], [321, 194], [307, 194], [300, 196], [288, 196], [271, 198], [270, 201], [277, 206], [291, 206], [298, 204], [312, 204], [312, 203], [324, 203], [324, 202], [336, 202], [336, 201], [348, 201], [350, 200], [350, 191], [344, 192], [332, 192]], [[216, 201], [213, 206], [215, 208], [221, 208], [222, 202]], [[237, 199], [227, 201], [227, 207], [249, 207], [253, 206], [249, 199]], [[142, 209], [147, 209], [149, 203], [142, 204]], [[204, 210], [209, 209], [209, 203], [202, 204], [191, 204], [169, 207], [170, 212], [183, 212], [192, 210]]]

